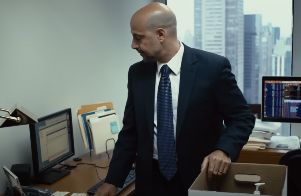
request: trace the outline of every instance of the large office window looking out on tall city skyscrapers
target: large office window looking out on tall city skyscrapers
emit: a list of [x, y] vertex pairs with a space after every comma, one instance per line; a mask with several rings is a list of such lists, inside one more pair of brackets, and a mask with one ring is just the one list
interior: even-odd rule
[[[292, 75], [293, 0], [167, 0], [187, 46], [229, 59], [249, 104], [261, 104], [262, 76]], [[290, 134], [290, 124], [280, 133]]]

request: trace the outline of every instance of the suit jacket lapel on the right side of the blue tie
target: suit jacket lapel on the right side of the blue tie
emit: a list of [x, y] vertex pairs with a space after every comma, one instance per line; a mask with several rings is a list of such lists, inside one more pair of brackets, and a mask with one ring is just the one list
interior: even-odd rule
[[191, 92], [194, 86], [195, 76], [197, 73], [197, 66], [193, 65], [195, 62], [197, 62], [197, 58], [195, 57], [193, 50], [190, 47], [184, 45], [184, 54], [180, 72], [176, 141], [182, 129]]

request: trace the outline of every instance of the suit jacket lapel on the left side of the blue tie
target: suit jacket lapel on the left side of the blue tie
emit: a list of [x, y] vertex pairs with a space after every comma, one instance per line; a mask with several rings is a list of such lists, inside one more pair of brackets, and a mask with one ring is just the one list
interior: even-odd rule
[[155, 84], [156, 84], [156, 71], [157, 63], [150, 63], [144, 65], [145, 78], [144, 78], [144, 100], [146, 109], [146, 119], [148, 124], [148, 129], [151, 134], [151, 138], [154, 138], [154, 108], [155, 108]]

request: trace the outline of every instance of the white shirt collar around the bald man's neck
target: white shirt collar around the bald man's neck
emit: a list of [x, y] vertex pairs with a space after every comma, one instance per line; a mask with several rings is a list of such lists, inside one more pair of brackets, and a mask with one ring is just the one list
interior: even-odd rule
[[[180, 41], [179, 41], [180, 42]], [[182, 44], [182, 42], [180, 42], [180, 49], [178, 50], [178, 52], [172, 57], [172, 59], [170, 59], [169, 62], [167, 63], [160, 63], [157, 62], [157, 72], [158, 72], [158, 77], [161, 76], [160, 70], [163, 67], [163, 65], [168, 65], [168, 67], [171, 69], [171, 71], [175, 74], [178, 75], [180, 73], [181, 70], [181, 64], [182, 64], [182, 58], [183, 58], [183, 54], [184, 54], [184, 46]]]

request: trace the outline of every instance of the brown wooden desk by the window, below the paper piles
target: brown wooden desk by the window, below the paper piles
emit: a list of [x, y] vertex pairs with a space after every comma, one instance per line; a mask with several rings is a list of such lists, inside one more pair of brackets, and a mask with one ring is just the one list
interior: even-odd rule
[[281, 156], [289, 150], [266, 148], [265, 150], [241, 150], [237, 163], [279, 164]]

